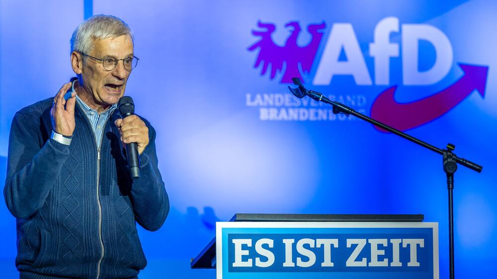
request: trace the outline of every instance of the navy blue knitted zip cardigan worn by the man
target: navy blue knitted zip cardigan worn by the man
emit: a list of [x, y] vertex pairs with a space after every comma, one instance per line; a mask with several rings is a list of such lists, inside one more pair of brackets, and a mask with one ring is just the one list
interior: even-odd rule
[[158, 230], [169, 212], [155, 130], [142, 118], [150, 143], [140, 155], [140, 178], [133, 181], [114, 125], [117, 110], [97, 148], [77, 105], [68, 146], [50, 139], [52, 101], [21, 109], [10, 129], [3, 194], [17, 219], [21, 278], [135, 278], [147, 265], [136, 222]]

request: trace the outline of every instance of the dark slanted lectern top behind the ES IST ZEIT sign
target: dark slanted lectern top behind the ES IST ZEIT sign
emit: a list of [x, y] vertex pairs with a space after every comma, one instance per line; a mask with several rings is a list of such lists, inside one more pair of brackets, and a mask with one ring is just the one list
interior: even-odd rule
[[[237, 213], [230, 222], [421, 222], [423, 214], [270, 214]], [[216, 238], [191, 259], [191, 268], [215, 268]]]

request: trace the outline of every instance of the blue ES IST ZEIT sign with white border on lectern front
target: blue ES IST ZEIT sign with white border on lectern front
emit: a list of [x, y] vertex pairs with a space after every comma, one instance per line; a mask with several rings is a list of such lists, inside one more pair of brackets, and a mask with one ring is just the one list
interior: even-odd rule
[[218, 279], [438, 279], [438, 223], [218, 222]]

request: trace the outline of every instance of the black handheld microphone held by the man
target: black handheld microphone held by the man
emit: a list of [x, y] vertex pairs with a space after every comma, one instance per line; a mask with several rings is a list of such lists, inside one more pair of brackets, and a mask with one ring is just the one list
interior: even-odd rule
[[[130, 96], [122, 96], [118, 102], [121, 118], [135, 114], [135, 104]], [[140, 177], [140, 158], [138, 157], [138, 145], [136, 142], [126, 143], [126, 157], [128, 157], [128, 168], [132, 179]]]

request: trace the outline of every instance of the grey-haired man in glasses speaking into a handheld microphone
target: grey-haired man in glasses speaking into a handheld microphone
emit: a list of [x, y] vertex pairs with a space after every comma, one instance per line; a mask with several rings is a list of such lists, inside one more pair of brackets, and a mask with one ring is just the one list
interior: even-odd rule
[[[71, 39], [77, 80], [15, 114], [4, 196], [17, 219], [20, 278], [137, 278], [145, 268], [136, 222], [159, 229], [169, 200], [154, 128], [116, 109], [137, 62], [128, 25], [95, 15]], [[134, 180], [130, 142], [141, 162]]]

